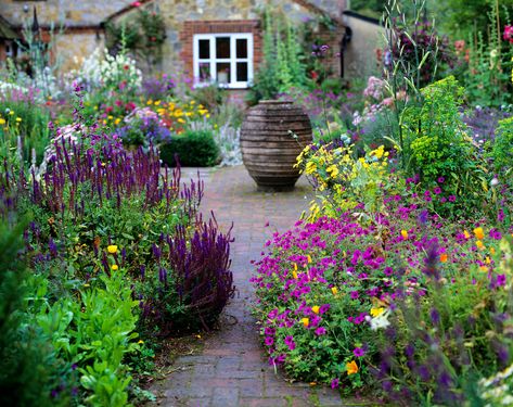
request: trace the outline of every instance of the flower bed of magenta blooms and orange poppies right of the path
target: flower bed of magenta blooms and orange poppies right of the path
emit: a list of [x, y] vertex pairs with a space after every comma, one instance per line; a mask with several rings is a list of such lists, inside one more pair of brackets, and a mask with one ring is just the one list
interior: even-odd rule
[[375, 217], [358, 205], [275, 233], [253, 278], [270, 363], [346, 393], [381, 382], [412, 403], [422, 392], [462, 397], [474, 369], [492, 374], [510, 360], [511, 239], [486, 228], [395, 195]]

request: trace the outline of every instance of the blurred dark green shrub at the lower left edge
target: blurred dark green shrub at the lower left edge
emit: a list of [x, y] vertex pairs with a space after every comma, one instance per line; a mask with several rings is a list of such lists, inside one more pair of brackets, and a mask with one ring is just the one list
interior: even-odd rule
[[[30, 320], [33, 293], [18, 253], [23, 227], [0, 222], [0, 405], [64, 406], [72, 394], [70, 366], [57, 360], [49, 338]], [[57, 391], [59, 389], [59, 391]]]

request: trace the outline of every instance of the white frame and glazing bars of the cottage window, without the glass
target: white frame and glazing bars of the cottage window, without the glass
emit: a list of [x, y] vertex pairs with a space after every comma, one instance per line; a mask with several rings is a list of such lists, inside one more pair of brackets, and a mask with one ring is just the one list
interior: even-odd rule
[[[218, 59], [216, 55], [216, 38], [229, 37], [230, 38], [230, 58]], [[210, 52], [208, 59], [200, 59], [200, 40], [210, 41]], [[236, 58], [236, 40], [247, 40], [247, 56]], [[236, 81], [236, 63], [247, 63], [247, 80]], [[200, 64], [210, 64], [210, 81], [200, 82]], [[193, 73], [194, 73], [194, 86], [200, 88], [215, 84], [217, 81], [216, 63], [229, 63], [230, 64], [230, 79], [229, 84], [219, 84], [221, 88], [228, 89], [246, 89], [253, 82], [253, 34], [252, 33], [219, 33], [219, 34], [195, 34], [193, 38]]]

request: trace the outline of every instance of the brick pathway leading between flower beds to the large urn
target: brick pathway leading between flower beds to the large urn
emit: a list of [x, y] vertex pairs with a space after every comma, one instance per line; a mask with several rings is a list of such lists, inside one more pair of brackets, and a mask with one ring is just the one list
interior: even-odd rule
[[[185, 168], [183, 179], [193, 176]], [[195, 177], [194, 177], [195, 178]], [[267, 364], [258, 328], [251, 315], [252, 259], [258, 259], [264, 242], [285, 231], [308, 207], [311, 189], [300, 179], [293, 192], [260, 193], [242, 166], [204, 170], [203, 214], [214, 209], [223, 230], [234, 222], [231, 257], [235, 298], [222, 316], [221, 330], [205, 341], [200, 355], [181, 356], [177, 371], [157, 389], [162, 406], [341, 406], [331, 389], [290, 384]], [[269, 221], [270, 226], [265, 227]], [[354, 404], [352, 404], [354, 405]]]

